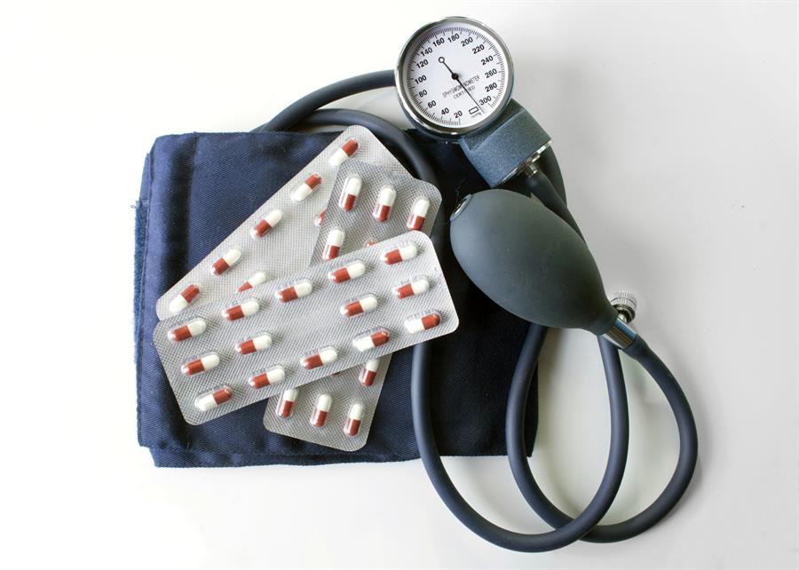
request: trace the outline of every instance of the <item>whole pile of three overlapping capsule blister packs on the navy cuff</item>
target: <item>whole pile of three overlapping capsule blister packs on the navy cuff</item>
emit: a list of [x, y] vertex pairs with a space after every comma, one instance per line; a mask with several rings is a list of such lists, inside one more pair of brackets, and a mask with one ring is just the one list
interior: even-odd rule
[[267, 430], [363, 447], [392, 352], [458, 325], [440, 203], [366, 129], [337, 137], [159, 299], [186, 422], [269, 399]]

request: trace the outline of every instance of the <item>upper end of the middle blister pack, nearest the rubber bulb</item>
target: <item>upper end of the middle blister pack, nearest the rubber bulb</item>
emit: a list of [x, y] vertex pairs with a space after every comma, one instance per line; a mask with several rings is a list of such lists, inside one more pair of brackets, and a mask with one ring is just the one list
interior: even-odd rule
[[360, 161], [342, 164], [320, 223], [312, 263], [409, 231], [430, 234], [441, 205], [438, 188]]

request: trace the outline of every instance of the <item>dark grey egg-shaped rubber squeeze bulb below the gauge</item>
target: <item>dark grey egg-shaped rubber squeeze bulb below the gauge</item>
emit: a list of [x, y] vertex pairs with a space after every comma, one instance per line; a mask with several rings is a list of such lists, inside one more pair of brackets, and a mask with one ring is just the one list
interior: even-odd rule
[[471, 194], [450, 218], [450, 237], [471, 281], [526, 321], [602, 335], [618, 317], [585, 242], [537, 198]]

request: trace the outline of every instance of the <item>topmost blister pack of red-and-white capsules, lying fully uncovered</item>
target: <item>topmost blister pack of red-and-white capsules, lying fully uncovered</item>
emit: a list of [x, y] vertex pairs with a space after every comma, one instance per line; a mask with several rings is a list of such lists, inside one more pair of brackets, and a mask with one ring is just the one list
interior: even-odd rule
[[410, 232], [188, 308], [153, 340], [186, 421], [202, 424], [457, 324], [430, 239]]

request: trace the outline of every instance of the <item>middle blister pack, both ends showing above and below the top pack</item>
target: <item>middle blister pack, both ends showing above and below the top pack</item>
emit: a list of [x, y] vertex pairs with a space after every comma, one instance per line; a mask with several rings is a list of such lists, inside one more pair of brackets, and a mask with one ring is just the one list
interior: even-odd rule
[[[440, 203], [439, 190], [426, 182], [365, 162], [344, 162], [320, 218], [312, 263], [410, 230], [430, 234]], [[273, 396], [265, 428], [344, 451], [360, 449], [390, 363], [389, 354]]]

